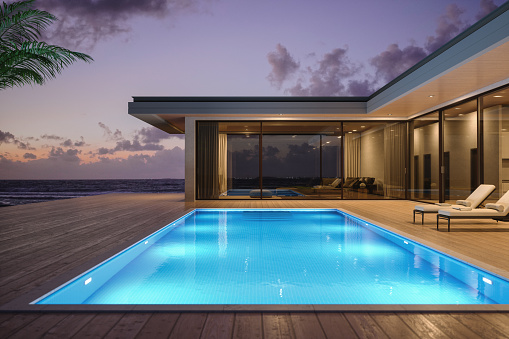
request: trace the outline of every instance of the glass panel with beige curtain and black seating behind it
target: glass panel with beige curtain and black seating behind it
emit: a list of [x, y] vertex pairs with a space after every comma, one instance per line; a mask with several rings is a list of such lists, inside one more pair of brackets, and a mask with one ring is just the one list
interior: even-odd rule
[[406, 123], [345, 122], [346, 199], [405, 197]]

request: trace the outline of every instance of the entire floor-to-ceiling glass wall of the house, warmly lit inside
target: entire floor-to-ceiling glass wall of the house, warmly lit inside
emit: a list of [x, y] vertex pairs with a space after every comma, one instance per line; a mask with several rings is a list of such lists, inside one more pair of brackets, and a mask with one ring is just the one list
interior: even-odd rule
[[[478, 109], [480, 111], [478, 112]], [[509, 87], [408, 122], [201, 121], [197, 199], [465, 199], [509, 190]]]

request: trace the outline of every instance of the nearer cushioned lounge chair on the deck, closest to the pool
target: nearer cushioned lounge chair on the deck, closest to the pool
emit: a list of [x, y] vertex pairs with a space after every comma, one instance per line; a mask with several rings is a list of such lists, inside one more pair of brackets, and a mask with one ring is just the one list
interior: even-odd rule
[[449, 208], [439, 210], [437, 214], [437, 231], [438, 221], [440, 219], [447, 219], [447, 231], [451, 231], [451, 219], [494, 219], [498, 221], [509, 221], [509, 191], [507, 191], [498, 201], [494, 204], [486, 204], [485, 208], [478, 208], [472, 210], [462, 210], [460, 208]]

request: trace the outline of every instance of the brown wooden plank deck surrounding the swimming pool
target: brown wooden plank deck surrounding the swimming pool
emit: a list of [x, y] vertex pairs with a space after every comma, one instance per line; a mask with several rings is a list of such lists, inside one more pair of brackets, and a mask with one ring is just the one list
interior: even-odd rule
[[[94, 263], [197, 207], [341, 208], [509, 278], [509, 223], [412, 223], [409, 201], [183, 202], [182, 194], [110, 194], [0, 209], [0, 305]], [[509, 313], [0, 313], [0, 338], [509, 338]]]

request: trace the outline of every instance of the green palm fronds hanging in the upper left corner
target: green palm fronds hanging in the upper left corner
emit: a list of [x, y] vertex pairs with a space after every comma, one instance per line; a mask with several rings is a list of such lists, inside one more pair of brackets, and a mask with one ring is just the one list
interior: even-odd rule
[[93, 61], [87, 54], [38, 41], [41, 31], [57, 18], [33, 9], [34, 1], [0, 6], [0, 90], [42, 85], [76, 60]]

